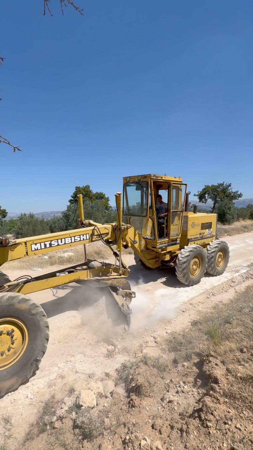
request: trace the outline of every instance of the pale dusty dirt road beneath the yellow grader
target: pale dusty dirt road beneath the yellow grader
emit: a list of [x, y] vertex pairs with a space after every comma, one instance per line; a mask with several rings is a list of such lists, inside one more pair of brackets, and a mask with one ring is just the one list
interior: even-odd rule
[[[31, 294], [35, 301], [43, 304], [48, 315], [50, 339], [38, 372], [16, 392], [0, 400], [1, 415], [11, 414], [15, 436], [22, 436], [35, 419], [41, 403], [52, 392], [61, 398], [73, 384], [78, 389], [87, 377], [99, 378], [114, 370], [149, 336], [162, 335], [182, 324], [187, 303], [192, 308], [201, 309], [201, 305], [206, 306], [212, 301], [212, 290], [217, 290], [218, 285], [233, 285], [232, 279], [246, 272], [253, 263], [253, 234], [225, 237], [225, 240], [231, 252], [225, 274], [220, 277], [205, 275], [194, 287], [180, 284], [173, 270], [139, 269], [133, 255], [125, 256], [124, 260], [131, 269], [129, 281], [137, 296], [132, 302], [130, 333], [124, 337], [112, 336], [118, 346], [112, 358], [108, 357], [107, 351], [110, 345], [107, 326], [103, 327], [99, 320], [102, 302], [83, 310], [84, 287], [72, 284]], [[6, 273], [14, 279], [27, 274], [27, 270], [6, 270]], [[31, 274], [37, 275], [36, 270]], [[199, 298], [200, 302], [195, 300]]]

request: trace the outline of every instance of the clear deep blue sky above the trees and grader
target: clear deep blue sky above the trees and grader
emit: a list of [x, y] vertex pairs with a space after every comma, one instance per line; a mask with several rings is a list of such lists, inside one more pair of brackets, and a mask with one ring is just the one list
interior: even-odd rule
[[0, 205], [65, 208], [75, 185], [114, 205], [122, 177], [232, 182], [253, 197], [252, 0], [1, 2]]

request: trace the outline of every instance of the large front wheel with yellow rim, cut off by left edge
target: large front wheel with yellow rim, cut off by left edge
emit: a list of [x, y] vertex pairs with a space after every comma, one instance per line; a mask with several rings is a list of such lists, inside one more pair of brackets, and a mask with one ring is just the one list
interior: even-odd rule
[[36, 372], [48, 340], [47, 316], [40, 305], [21, 294], [0, 294], [0, 396]]

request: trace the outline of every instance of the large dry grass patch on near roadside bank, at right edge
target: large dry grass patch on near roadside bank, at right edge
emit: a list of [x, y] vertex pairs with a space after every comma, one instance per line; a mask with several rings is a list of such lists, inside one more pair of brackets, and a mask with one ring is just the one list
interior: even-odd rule
[[177, 363], [209, 352], [226, 355], [241, 347], [253, 348], [253, 288], [200, 314], [191, 328], [170, 333], [165, 345]]

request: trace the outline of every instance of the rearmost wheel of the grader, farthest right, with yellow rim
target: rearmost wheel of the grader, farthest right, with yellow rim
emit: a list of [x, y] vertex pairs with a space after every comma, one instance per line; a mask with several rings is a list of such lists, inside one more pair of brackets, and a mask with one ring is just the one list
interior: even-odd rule
[[225, 241], [213, 241], [207, 247], [206, 271], [209, 275], [222, 275], [229, 261], [229, 247]]

